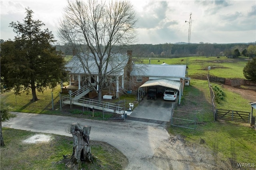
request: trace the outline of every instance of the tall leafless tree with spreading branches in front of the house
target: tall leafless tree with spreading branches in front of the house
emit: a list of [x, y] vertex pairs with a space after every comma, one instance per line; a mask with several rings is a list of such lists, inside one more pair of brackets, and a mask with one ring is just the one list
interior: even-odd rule
[[[127, 58], [116, 54], [125, 45], [134, 43], [136, 21], [133, 6], [128, 0], [109, 3], [68, 0], [58, 35], [75, 50], [86, 74], [94, 77], [97, 72], [98, 78], [94, 77], [94, 81], [98, 85], [98, 100], [102, 100], [102, 86], [107, 77], [117, 75], [128, 62]], [[86, 45], [86, 48], [80, 48], [81, 45]]]

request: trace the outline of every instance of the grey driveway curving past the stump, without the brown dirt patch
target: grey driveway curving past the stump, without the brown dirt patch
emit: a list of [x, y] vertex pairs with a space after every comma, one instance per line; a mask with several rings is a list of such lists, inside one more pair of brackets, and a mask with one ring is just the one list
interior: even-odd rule
[[[158, 164], [146, 158], [152, 158], [154, 150], [161, 145], [162, 141], [169, 138], [162, 125], [128, 120], [119, 123], [55, 115], [12, 113], [17, 117], [4, 122], [3, 127], [71, 137], [72, 135], [68, 133], [71, 123], [77, 122], [81, 126], [89, 125], [92, 127], [91, 140], [104, 141], [116, 147], [128, 158], [127, 170], [161, 169]], [[168, 164], [167, 160], [165, 163]]]

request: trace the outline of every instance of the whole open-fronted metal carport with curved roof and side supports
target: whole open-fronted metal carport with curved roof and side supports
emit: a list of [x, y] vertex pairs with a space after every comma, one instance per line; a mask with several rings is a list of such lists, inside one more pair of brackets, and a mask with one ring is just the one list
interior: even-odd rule
[[172, 88], [172, 89], [178, 90], [179, 91], [178, 104], [180, 105], [180, 100], [183, 93], [181, 82], [168, 80], [168, 79], [148, 80], [138, 88], [138, 101], [140, 101], [142, 96], [146, 94], [146, 87], [149, 87], [149, 86], [163, 86], [166, 88]]

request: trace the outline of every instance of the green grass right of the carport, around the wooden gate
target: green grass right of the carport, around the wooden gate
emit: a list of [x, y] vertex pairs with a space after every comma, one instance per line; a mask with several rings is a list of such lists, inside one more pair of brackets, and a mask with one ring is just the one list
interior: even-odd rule
[[[236, 93], [229, 92], [225, 88], [222, 90], [224, 90], [225, 97], [224, 100], [220, 101], [220, 104], [216, 104], [217, 108], [250, 111], [247, 100]], [[191, 86], [185, 88], [184, 96], [186, 97], [182, 100], [181, 107], [177, 107], [177, 110], [183, 110], [184, 106], [189, 105], [191, 108], [198, 108], [195, 109], [197, 117], [203, 117], [198, 118], [196, 129], [170, 126], [168, 127], [169, 133], [180, 135], [191, 144], [198, 145], [203, 140], [204, 147], [212, 150], [212, 155], [216, 157], [216, 160], [232, 161], [235, 162], [235, 165], [236, 162], [255, 163], [255, 131], [249, 127], [248, 123], [213, 121], [213, 113], [209, 109], [211, 107], [210, 100], [204, 99], [204, 97], [208, 98], [208, 91], [208, 83], [204, 80], [192, 81]], [[198, 100], [194, 102], [193, 99]]]

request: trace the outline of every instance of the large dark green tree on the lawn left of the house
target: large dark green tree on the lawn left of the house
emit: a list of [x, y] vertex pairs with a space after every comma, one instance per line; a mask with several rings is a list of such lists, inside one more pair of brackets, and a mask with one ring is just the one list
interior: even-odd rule
[[44, 23], [32, 20], [34, 12], [26, 8], [24, 23], [11, 22], [17, 33], [14, 41], [1, 43], [1, 88], [14, 89], [16, 94], [30, 92], [38, 100], [36, 90], [54, 88], [66, 78], [65, 61], [60, 51], [52, 46], [54, 36]]

